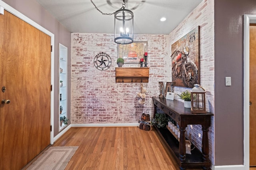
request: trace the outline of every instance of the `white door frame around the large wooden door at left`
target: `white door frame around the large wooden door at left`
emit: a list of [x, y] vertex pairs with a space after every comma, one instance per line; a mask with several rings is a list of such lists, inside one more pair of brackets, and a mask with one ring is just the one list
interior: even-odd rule
[[[51, 37], [51, 45], [52, 45], [52, 52], [51, 52], [51, 84], [54, 87], [54, 34], [39, 25], [38, 23], [34, 22], [30, 18], [24, 16], [22, 13], [18, 12], [2, 0], [0, 0], [0, 6], [4, 8], [4, 10], [10, 12], [14, 16], [20, 18], [21, 20], [25, 21], [26, 23], [29, 23], [33, 27], [37, 28], [38, 30], [42, 31], [46, 35], [49, 35]], [[50, 47], [49, 47], [50, 48]], [[49, 86], [50, 88], [50, 86]], [[51, 94], [50, 94], [50, 125], [52, 126], [52, 131], [50, 132], [50, 144], [54, 143], [54, 88], [52, 88]]]

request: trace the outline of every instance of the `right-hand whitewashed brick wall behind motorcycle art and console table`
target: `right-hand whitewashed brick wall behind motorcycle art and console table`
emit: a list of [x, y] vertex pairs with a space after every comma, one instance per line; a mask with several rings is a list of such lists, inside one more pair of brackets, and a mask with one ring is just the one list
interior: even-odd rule
[[[204, 0], [197, 6], [169, 35], [170, 46], [200, 25], [200, 85], [206, 90], [206, 110], [214, 113], [214, 1]], [[171, 51], [171, 50], [170, 50]], [[190, 88], [174, 87], [174, 92], [180, 94]], [[180, 100], [176, 96], [177, 100]], [[210, 160], [214, 163], [214, 117], [209, 129]], [[189, 125], [186, 128], [187, 137], [201, 149], [202, 127]]]

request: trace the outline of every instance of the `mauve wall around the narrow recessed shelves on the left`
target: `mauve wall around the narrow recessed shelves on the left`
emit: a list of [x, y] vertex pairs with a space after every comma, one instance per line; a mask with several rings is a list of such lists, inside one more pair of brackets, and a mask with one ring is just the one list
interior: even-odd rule
[[[3, 0], [6, 4], [10, 5], [12, 8], [18, 10], [20, 13], [30, 18], [34, 22], [38, 23], [48, 31], [54, 34], [54, 96], [58, 95], [58, 76], [59, 76], [59, 43], [65, 45], [68, 48], [68, 79], [70, 80], [70, 46], [71, 46], [71, 36], [70, 31], [68, 31], [63, 25], [61, 25], [55, 18], [53, 18], [36, 0]], [[70, 82], [68, 82], [68, 87], [70, 87]], [[70, 94], [70, 88], [68, 88], [68, 94]], [[70, 119], [70, 95], [67, 101], [68, 106], [68, 119]], [[58, 135], [59, 129], [59, 108], [58, 108], [58, 97], [54, 98], [54, 137]], [[69, 121], [70, 123], [70, 121]]]

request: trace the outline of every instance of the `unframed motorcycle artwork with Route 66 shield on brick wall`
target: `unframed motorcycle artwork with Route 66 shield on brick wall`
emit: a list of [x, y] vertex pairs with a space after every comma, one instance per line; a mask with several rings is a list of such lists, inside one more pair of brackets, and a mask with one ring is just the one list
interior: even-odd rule
[[174, 86], [200, 84], [200, 26], [172, 44], [171, 61]]

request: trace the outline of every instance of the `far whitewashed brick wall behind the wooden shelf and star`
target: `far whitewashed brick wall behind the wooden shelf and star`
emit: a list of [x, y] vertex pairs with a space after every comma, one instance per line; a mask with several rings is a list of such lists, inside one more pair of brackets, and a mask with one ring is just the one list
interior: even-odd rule
[[[72, 33], [71, 35], [71, 123], [138, 123], [142, 113], [152, 117], [152, 96], [159, 95], [158, 81], [170, 78], [168, 35], [134, 35], [134, 41], [148, 41], [150, 78], [143, 83], [146, 103], [138, 103], [140, 83], [116, 83], [117, 45], [113, 34]], [[94, 57], [107, 53], [108, 70], [98, 70]], [[124, 64], [139, 67], [139, 64]]]

